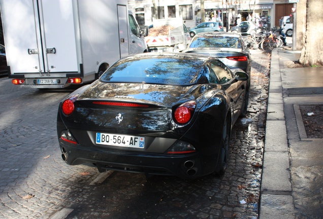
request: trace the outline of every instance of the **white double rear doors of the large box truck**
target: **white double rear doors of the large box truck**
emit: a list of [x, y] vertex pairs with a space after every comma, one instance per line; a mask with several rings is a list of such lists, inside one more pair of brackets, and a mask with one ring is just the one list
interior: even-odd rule
[[1, 0], [1, 8], [11, 74], [78, 72], [72, 1]]

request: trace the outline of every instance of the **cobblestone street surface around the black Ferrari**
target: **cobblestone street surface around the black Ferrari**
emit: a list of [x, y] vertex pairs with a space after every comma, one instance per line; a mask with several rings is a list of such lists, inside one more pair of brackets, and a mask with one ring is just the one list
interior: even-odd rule
[[270, 55], [251, 53], [251, 122], [233, 128], [227, 172], [195, 180], [115, 171], [95, 183], [107, 173], [61, 159], [56, 112], [69, 91], [1, 78], [0, 218], [257, 218]]

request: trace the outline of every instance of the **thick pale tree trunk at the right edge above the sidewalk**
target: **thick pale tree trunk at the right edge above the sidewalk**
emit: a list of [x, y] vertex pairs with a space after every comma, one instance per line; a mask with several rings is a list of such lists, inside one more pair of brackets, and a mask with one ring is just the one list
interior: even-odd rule
[[322, 8], [322, 0], [307, 0], [306, 31], [304, 35], [304, 46], [299, 60], [304, 66], [323, 65]]

